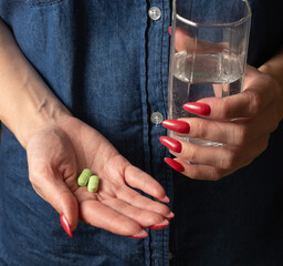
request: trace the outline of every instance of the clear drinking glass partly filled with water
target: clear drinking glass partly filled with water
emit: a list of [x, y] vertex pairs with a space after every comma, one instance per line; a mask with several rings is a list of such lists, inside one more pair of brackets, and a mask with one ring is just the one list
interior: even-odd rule
[[[168, 119], [198, 116], [182, 109], [187, 102], [242, 91], [250, 23], [248, 0], [172, 1]], [[172, 131], [169, 135], [181, 137]]]

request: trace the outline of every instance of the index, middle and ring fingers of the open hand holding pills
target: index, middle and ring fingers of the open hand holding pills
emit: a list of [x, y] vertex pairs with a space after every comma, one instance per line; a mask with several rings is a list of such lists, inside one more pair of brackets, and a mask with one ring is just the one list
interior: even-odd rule
[[166, 205], [142, 196], [125, 183], [102, 177], [97, 193], [84, 188], [74, 193], [80, 217], [114, 234], [143, 238], [147, 236], [144, 228], [165, 228], [169, 224], [167, 219], [174, 216]]

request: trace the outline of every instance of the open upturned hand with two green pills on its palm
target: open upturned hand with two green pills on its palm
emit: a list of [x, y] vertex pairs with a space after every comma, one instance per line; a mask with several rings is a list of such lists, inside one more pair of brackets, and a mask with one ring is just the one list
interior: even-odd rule
[[[78, 217], [115, 234], [140, 238], [146, 236], [143, 228], [163, 228], [168, 225], [166, 217], [172, 216], [166, 205], [132, 188], [168, 203], [159, 183], [133, 166], [97, 131], [71, 115], [33, 135], [27, 153], [35, 192], [64, 214], [71, 236]], [[86, 167], [99, 176], [97, 193], [76, 183]]]

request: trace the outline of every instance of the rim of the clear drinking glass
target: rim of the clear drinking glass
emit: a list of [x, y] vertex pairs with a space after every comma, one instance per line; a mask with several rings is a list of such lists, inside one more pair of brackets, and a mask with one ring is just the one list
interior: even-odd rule
[[176, 19], [180, 20], [184, 23], [190, 24], [192, 27], [234, 27], [234, 25], [239, 25], [243, 22], [245, 22], [247, 20], [249, 20], [252, 16], [251, 12], [251, 7], [249, 4], [249, 2], [247, 0], [242, 0], [245, 6], [247, 6], [247, 10], [248, 10], [248, 14], [243, 18], [241, 18], [240, 20], [233, 21], [233, 22], [228, 22], [228, 23], [201, 23], [201, 22], [195, 22], [192, 20], [188, 20], [181, 16], [179, 16], [178, 13], [176, 13]]

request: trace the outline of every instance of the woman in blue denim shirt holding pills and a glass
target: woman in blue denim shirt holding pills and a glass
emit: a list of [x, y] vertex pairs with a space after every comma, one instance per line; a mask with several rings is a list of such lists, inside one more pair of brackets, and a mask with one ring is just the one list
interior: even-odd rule
[[[283, 7], [250, 3], [248, 60], [259, 70], [247, 70], [247, 96], [226, 100], [230, 114], [203, 102], [227, 145], [207, 155], [181, 143], [167, 160], [180, 174], [158, 141], [169, 0], [0, 1], [2, 265], [282, 264]], [[232, 139], [226, 120], [239, 116]], [[206, 126], [214, 141], [216, 122]], [[176, 167], [184, 158], [198, 165]], [[85, 167], [101, 178], [97, 194], [76, 185]]]

